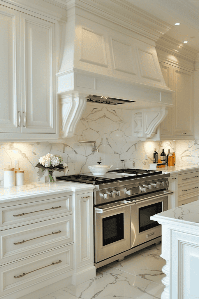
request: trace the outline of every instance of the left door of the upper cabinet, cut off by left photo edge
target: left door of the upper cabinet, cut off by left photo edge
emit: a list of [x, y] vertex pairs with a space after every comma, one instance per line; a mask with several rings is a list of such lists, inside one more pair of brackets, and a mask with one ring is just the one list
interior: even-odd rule
[[19, 13], [0, 5], [0, 132], [20, 132]]

